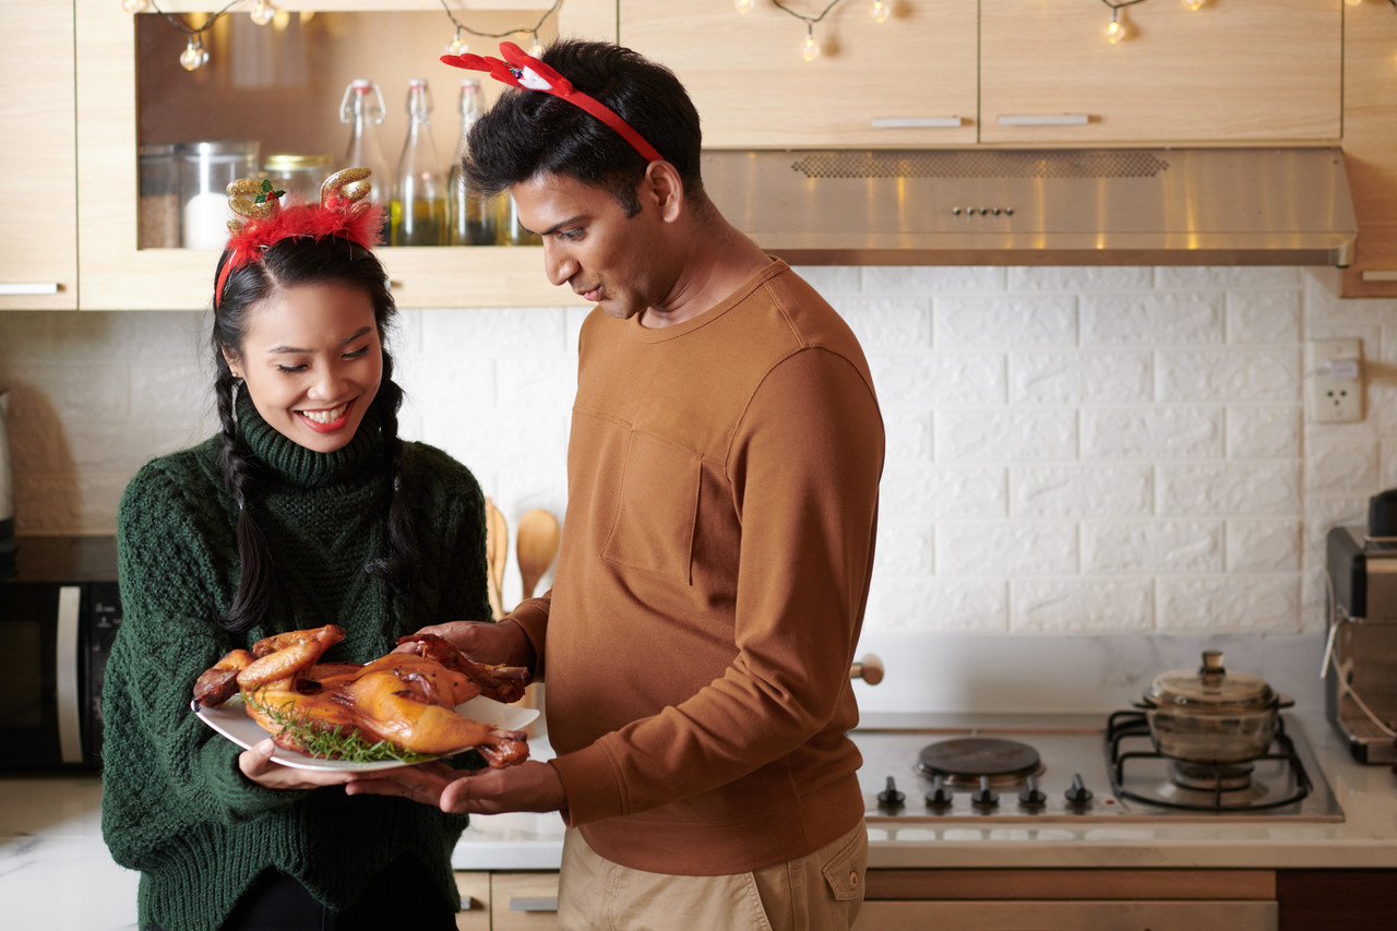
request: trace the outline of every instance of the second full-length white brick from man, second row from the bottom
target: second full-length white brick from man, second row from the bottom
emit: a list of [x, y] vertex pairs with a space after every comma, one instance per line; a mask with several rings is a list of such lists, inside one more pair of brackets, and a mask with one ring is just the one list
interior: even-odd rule
[[1112, 575], [1222, 572], [1225, 540], [1221, 520], [1087, 521], [1081, 566]]

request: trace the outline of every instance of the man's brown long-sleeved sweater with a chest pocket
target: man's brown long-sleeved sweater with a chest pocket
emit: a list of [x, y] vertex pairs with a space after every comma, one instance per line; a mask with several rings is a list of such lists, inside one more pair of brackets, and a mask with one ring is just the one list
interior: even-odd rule
[[858, 823], [883, 422], [844, 320], [782, 261], [673, 327], [594, 310], [567, 466], [553, 590], [514, 618], [542, 646], [569, 822], [679, 875]]

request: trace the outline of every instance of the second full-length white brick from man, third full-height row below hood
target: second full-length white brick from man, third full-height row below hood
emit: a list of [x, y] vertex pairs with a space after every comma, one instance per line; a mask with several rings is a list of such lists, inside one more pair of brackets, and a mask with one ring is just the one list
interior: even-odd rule
[[1081, 411], [1083, 459], [1221, 459], [1220, 407], [1088, 407]]

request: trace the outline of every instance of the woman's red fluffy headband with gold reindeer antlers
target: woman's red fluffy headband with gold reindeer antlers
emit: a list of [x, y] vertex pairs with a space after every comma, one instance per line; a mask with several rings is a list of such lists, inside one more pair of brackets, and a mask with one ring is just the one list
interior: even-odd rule
[[214, 308], [224, 299], [228, 275], [249, 261], [261, 261], [263, 252], [282, 239], [339, 236], [365, 249], [377, 246], [383, 232], [383, 207], [365, 203], [373, 189], [367, 180], [372, 173], [367, 168], [335, 172], [320, 186], [319, 204], [288, 207], [281, 205], [284, 192], [272, 190], [267, 180], [239, 178], [229, 185], [228, 205], [233, 212], [247, 217], [247, 222], [228, 221], [232, 235], [224, 252], [229, 254], [218, 273]]

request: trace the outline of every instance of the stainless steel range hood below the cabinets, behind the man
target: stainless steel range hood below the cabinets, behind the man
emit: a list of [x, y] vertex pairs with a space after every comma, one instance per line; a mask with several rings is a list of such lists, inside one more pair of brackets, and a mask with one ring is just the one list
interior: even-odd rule
[[1347, 266], [1338, 148], [707, 151], [724, 215], [792, 264]]

